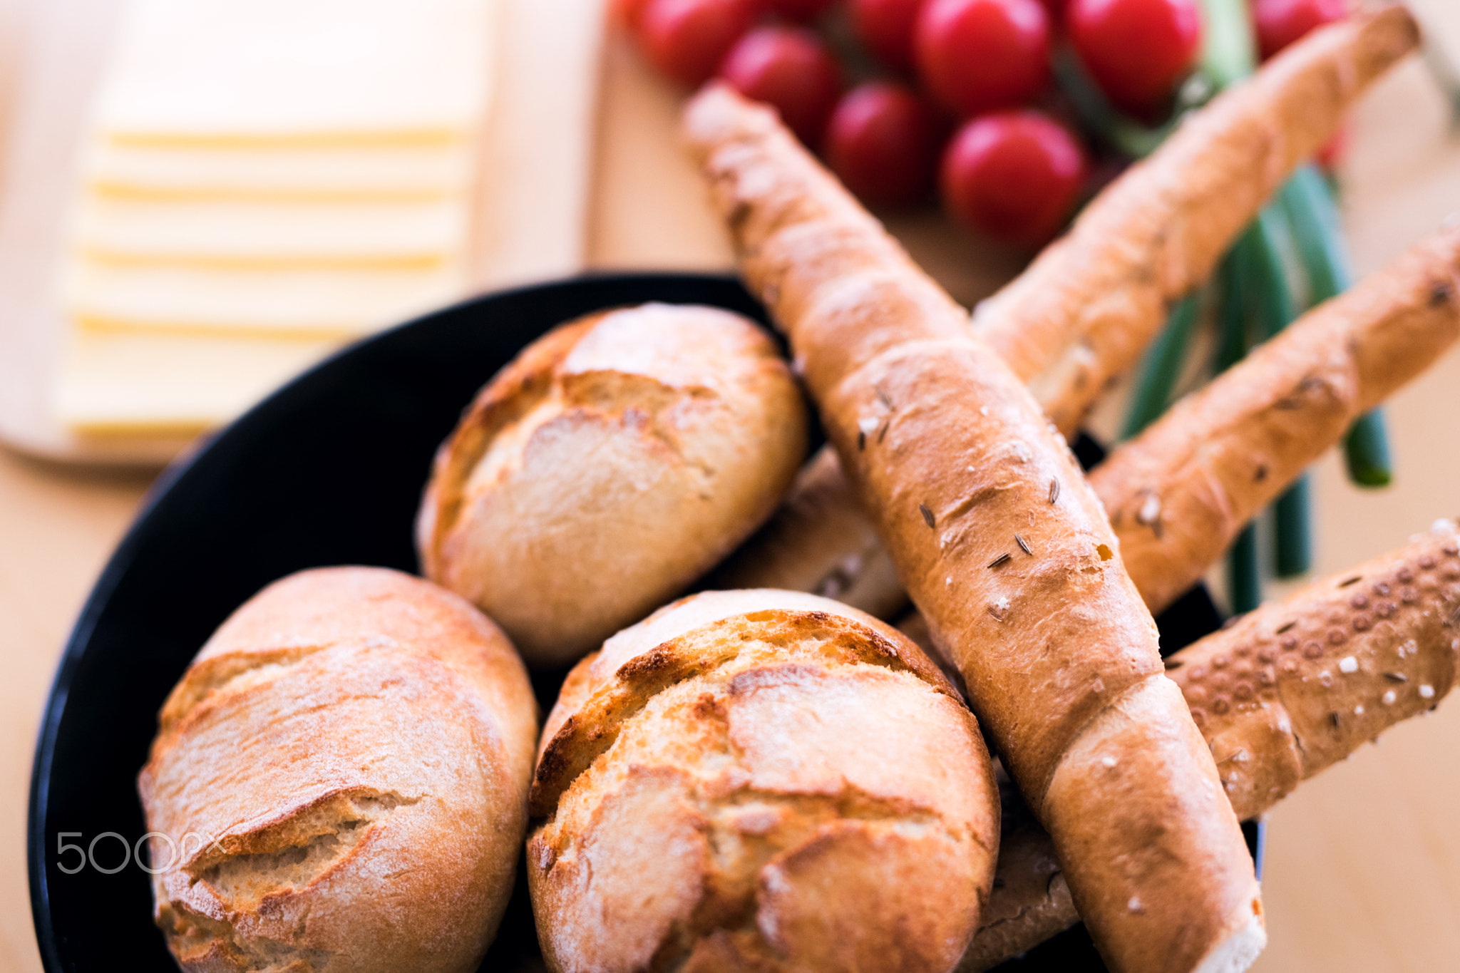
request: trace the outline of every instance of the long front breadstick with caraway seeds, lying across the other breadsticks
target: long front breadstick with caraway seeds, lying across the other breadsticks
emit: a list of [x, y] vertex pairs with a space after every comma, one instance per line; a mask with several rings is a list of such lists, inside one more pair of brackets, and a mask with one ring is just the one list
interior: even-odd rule
[[686, 130], [742, 273], [1117, 972], [1245, 969], [1251, 858], [1114, 535], [1028, 389], [765, 108]]

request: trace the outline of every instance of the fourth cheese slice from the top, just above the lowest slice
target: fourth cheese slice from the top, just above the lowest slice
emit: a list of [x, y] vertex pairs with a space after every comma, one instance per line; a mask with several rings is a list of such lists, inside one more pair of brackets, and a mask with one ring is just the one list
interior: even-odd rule
[[82, 328], [361, 336], [458, 299], [460, 260], [434, 270], [199, 270], [73, 261], [67, 314]]

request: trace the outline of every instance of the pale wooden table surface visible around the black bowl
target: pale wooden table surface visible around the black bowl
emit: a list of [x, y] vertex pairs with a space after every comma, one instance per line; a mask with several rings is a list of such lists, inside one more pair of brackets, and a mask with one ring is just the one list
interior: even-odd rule
[[[1415, 3], [1451, 51], [1460, 4]], [[729, 248], [670, 133], [675, 96], [620, 47], [603, 83], [590, 226], [597, 267], [724, 268]], [[1460, 142], [1418, 64], [1386, 80], [1353, 121], [1346, 220], [1361, 273], [1460, 210]], [[912, 220], [917, 223], [917, 220]], [[1007, 257], [933, 225], [914, 251], [962, 301]], [[3, 325], [0, 325], [3, 327]], [[1348, 486], [1317, 468], [1318, 569], [1340, 570], [1460, 513], [1460, 353], [1390, 406], [1399, 481]], [[55, 659], [150, 471], [77, 470], [0, 451], [0, 970], [39, 970], [25, 874], [31, 756]], [[1460, 966], [1460, 703], [1391, 731], [1270, 817], [1261, 973], [1438, 973]]]

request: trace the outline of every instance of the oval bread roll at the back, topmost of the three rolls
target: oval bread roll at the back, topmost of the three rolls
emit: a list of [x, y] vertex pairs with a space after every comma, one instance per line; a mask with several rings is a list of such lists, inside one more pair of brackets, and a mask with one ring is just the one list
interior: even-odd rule
[[566, 664], [675, 597], [775, 509], [806, 407], [745, 318], [650, 303], [530, 344], [441, 446], [426, 576]]

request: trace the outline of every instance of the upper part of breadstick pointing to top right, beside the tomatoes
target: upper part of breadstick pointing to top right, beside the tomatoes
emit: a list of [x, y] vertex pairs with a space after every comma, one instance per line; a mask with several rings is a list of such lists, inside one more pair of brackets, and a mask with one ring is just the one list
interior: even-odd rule
[[978, 306], [974, 330], [1066, 435], [1130, 369], [1283, 179], [1419, 42], [1399, 6], [1314, 31], [1194, 114]]

